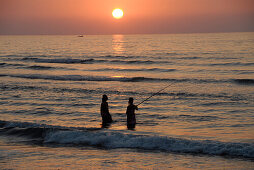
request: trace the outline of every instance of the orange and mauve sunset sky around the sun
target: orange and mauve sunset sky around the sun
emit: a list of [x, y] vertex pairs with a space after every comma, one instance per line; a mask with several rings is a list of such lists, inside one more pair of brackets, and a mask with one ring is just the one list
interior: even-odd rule
[[254, 31], [254, 0], [0, 0], [1, 35], [242, 31]]

